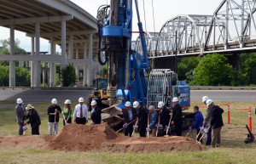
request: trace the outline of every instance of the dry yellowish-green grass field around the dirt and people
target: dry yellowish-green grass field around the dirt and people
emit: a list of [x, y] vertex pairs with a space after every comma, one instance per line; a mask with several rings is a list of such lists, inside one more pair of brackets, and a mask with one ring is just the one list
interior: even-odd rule
[[[75, 101], [73, 101], [75, 102]], [[1, 103], [1, 102], [0, 102]], [[9, 103], [9, 102], [8, 102]], [[59, 102], [61, 107], [63, 102]], [[230, 105], [237, 108], [247, 108], [253, 106], [253, 117], [255, 102], [252, 101], [217, 101], [216, 105]], [[76, 103], [72, 104], [72, 109]], [[47, 108], [49, 103], [34, 105], [41, 117], [41, 134], [48, 134]], [[191, 106], [203, 106], [201, 101], [191, 102]], [[15, 108], [0, 110], [0, 136], [17, 135], [18, 125], [15, 123]], [[64, 152], [56, 150], [37, 150], [35, 148], [17, 149], [13, 147], [0, 147], [0, 163], [256, 163], [256, 144], [244, 144], [248, 124], [247, 110], [234, 110], [230, 108], [230, 125], [227, 123], [227, 107], [224, 109], [224, 127], [222, 129], [221, 147], [209, 148], [204, 151], [195, 152], [159, 152], [151, 154], [134, 153], [109, 153], [100, 151], [90, 152]], [[205, 113], [206, 109], [201, 109]], [[192, 110], [189, 110], [192, 111]], [[256, 120], [253, 118], [253, 126]], [[62, 122], [60, 122], [59, 131]], [[256, 128], [253, 127], [253, 132]], [[26, 134], [31, 133], [28, 127]], [[187, 132], [183, 132], [185, 135]], [[189, 137], [195, 138], [194, 134]]]

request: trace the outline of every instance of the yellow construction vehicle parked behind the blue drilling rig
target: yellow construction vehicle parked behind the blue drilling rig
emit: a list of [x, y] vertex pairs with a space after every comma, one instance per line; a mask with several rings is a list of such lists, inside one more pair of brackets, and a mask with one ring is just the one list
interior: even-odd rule
[[102, 104], [102, 100], [107, 100], [107, 88], [108, 88], [108, 78], [105, 77], [98, 77], [93, 82], [96, 86], [96, 88], [93, 89], [92, 93], [89, 95], [89, 98], [87, 99], [87, 106], [89, 107], [89, 110], [91, 110], [91, 101], [96, 100], [97, 105], [101, 109], [107, 108], [108, 105]]

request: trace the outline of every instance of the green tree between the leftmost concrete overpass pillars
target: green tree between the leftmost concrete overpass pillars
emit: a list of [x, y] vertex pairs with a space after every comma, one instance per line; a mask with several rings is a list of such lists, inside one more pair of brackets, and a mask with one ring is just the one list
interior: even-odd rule
[[23, 67], [16, 67], [16, 87], [30, 87], [31, 86], [31, 81], [30, 81], [30, 72]]

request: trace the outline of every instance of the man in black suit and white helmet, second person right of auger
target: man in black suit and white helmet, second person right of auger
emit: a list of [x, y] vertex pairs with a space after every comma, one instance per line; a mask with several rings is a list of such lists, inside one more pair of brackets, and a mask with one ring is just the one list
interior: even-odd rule
[[133, 107], [137, 109], [137, 125], [140, 137], [146, 137], [146, 127], [148, 125], [148, 111], [143, 109], [143, 107], [137, 101], [134, 101]]

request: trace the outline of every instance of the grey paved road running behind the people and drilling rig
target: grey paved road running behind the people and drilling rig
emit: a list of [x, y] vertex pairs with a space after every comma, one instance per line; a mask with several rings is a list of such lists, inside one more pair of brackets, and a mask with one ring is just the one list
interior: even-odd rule
[[[89, 90], [0, 90], [0, 100], [16, 100], [21, 98], [26, 103], [50, 102], [58, 100], [86, 99]], [[201, 100], [202, 96], [209, 96], [213, 100], [253, 101], [256, 99], [254, 90], [191, 90], [191, 100]], [[15, 103], [15, 102], [14, 102]], [[3, 108], [3, 105], [0, 105]]]

